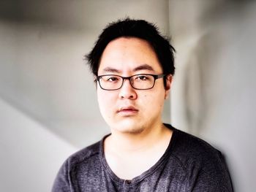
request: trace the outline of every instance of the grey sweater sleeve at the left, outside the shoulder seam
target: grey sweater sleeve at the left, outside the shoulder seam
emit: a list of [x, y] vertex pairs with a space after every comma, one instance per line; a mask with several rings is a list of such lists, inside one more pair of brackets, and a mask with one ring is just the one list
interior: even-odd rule
[[53, 183], [52, 192], [71, 192], [72, 186], [70, 185], [69, 177], [69, 162], [65, 161], [59, 169], [56, 179]]

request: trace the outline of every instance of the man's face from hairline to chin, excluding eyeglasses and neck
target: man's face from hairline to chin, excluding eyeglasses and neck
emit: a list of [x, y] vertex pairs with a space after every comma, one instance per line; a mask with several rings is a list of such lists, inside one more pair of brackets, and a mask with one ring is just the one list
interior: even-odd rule
[[[162, 67], [152, 47], [143, 39], [118, 38], [111, 41], [102, 53], [98, 75], [162, 74]], [[139, 133], [162, 124], [161, 114], [170, 90], [171, 77], [164, 87], [163, 78], [148, 90], [132, 88], [124, 80], [116, 91], [105, 91], [97, 85], [99, 110], [112, 131]]]

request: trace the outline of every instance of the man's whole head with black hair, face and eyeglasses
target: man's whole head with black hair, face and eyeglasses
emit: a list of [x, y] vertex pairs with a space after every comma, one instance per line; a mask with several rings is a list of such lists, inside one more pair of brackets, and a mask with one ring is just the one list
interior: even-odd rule
[[112, 131], [140, 133], [162, 126], [173, 51], [144, 20], [122, 20], [105, 28], [88, 58], [97, 77], [99, 110]]

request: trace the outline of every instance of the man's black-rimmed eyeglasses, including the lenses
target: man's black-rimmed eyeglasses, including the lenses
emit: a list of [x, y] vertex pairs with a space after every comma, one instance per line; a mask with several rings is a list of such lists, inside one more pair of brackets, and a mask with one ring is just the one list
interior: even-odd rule
[[165, 77], [165, 74], [135, 74], [130, 77], [121, 77], [115, 74], [105, 74], [97, 76], [100, 88], [107, 91], [114, 91], [121, 88], [124, 80], [129, 80], [132, 88], [146, 90], [154, 87], [157, 79]]

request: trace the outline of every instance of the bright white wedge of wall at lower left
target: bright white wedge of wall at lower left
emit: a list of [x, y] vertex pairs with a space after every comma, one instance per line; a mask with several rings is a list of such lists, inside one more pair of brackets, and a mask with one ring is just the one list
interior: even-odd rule
[[78, 148], [0, 99], [0, 191], [50, 191]]

